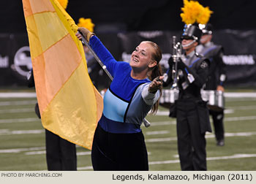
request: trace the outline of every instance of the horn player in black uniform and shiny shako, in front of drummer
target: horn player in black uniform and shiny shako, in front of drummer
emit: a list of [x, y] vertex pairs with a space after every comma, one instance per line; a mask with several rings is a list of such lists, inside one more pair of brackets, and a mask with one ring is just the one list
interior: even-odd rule
[[[206, 131], [211, 131], [206, 101], [200, 89], [206, 83], [210, 61], [195, 53], [201, 31], [195, 25], [185, 26], [181, 36], [184, 54], [178, 64], [178, 99], [170, 115], [177, 120], [178, 155], [181, 170], [206, 170]], [[170, 69], [173, 58], [169, 59]], [[165, 80], [164, 80], [165, 81]], [[164, 86], [172, 83], [172, 72], [168, 72]]]

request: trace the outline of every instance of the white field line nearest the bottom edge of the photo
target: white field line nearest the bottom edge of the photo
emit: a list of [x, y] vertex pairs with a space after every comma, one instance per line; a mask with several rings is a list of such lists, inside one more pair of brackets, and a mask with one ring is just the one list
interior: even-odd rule
[[[227, 160], [227, 159], [235, 159], [235, 158], [254, 158], [256, 154], [235, 154], [233, 156], [217, 156], [217, 157], [208, 157], [207, 161], [217, 161], [217, 160]], [[170, 160], [170, 161], [149, 161], [149, 165], [156, 164], [177, 164], [179, 160]], [[78, 170], [89, 170], [93, 169], [92, 166], [81, 166], [78, 167]]]

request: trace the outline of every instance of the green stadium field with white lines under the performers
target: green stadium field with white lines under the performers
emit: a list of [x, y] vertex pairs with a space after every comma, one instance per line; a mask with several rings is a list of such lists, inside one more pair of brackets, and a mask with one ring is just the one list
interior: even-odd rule
[[[218, 147], [214, 134], [206, 134], [208, 170], [256, 170], [255, 93], [226, 97], [225, 146]], [[248, 93], [249, 94], [249, 93]], [[16, 96], [16, 97], [15, 97]], [[35, 97], [0, 96], [0, 170], [47, 170], [45, 130], [34, 113]], [[151, 126], [142, 126], [150, 170], [180, 170], [176, 119], [160, 107], [148, 115]], [[78, 170], [92, 170], [91, 152], [77, 147]]]

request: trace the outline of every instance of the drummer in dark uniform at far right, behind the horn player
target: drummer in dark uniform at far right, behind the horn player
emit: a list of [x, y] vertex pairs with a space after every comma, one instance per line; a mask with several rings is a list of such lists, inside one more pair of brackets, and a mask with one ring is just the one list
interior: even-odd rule
[[[197, 52], [200, 55], [209, 58], [211, 61], [211, 66], [209, 69], [208, 80], [204, 90], [214, 90], [214, 91], [222, 91], [224, 92], [224, 83], [226, 80], [225, 75], [225, 64], [222, 60], [223, 55], [223, 47], [221, 45], [215, 45], [211, 42], [212, 39], [212, 26], [210, 23], [206, 25], [200, 25], [203, 35], [200, 39], [201, 45], [197, 46]], [[217, 139], [217, 145], [224, 145], [224, 126], [223, 126], [223, 118], [224, 118], [224, 110], [209, 110], [210, 115], [213, 118], [214, 122], [214, 132], [215, 137]]]

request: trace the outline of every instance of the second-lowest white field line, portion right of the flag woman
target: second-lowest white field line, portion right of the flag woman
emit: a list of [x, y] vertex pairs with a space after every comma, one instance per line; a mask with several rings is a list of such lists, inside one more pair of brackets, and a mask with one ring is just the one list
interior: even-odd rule
[[[237, 133], [225, 133], [225, 137], [249, 137], [256, 135], [256, 132], [237, 132]], [[215, 138], [214, 134], [206, 134], [206, 139]], [[168, 141], [176, 141], [177, 137], [165, 137], [165, 138], [154, 138], [154, 139], [146, 139], [145, 142], [168, 142]]]

